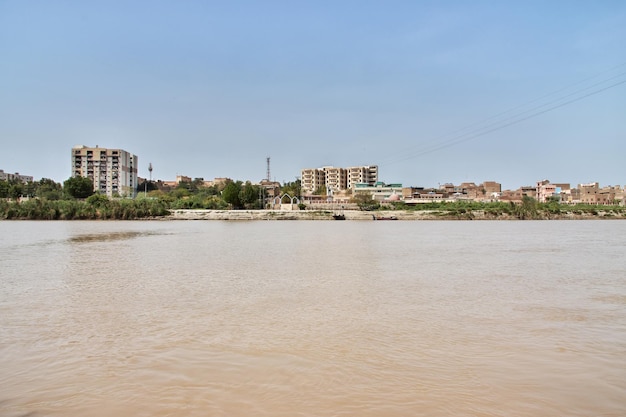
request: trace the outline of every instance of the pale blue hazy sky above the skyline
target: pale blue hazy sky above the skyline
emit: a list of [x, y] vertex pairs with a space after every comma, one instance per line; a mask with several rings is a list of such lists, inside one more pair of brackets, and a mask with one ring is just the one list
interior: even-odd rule
[[0, 0], [0, 169], [626, 184], [626, 2]]

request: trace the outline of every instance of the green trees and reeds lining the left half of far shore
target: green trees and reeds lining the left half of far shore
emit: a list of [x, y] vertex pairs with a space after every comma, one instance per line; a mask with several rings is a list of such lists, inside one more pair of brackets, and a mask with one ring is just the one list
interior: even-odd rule
[[[299, 181], [285, 187], [299, 194]], [[261, 209], [265, 201], [265, 189], [249, 181], [206, 187], [194, 180], [170, 191], [148, 182], [140, 188], [135, 199], [110, 199], [95, 193], [92, 181], [83, 177], [62, 185], [46, 178], [26, 184], [0, 181], [0, 219], [134, 219], [164, 216], [170, 209]]]

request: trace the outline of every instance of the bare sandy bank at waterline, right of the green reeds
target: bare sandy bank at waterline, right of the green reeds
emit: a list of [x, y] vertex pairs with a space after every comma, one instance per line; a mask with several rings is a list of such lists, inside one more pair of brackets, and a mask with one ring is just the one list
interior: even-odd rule
[[[328, 210], [171, 210], [164, 220], [334, 220]], [[397, 220], [520, 220], [508, 213], [490, 213], [485, 210], [451, 212], [446, 210], [344, 210], [345, 220], [374, 220], [374, 217], [395, 218]], [[585, 220], [585, 219], [626, 219], [624, 214], [598, 211], [594, 213], [565, 212], [559, 214], [538, 213], [537, 220]]]

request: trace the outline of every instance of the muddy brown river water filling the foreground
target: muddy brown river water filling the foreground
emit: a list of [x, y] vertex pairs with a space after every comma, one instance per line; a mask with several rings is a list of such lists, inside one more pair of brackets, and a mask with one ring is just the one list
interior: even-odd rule
[[0, 415], [625, 415], [625, 231], [0, 222]]

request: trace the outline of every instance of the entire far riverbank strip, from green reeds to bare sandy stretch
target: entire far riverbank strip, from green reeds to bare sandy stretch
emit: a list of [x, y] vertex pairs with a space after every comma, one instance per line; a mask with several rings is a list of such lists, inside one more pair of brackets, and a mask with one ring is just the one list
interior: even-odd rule
[[[297, 207], [296, 207], [297, 208]], [[536, 203], [428, 203], [420, 207], [401, 204], [386, 210], [356, 208], [334, 211], [329, 207], [306, 210], [226, 210], [225, 208], [177, 208], [158, 199], [0, 200], [0, 220], [581, 220], [626, 219], [626, 207]]]

